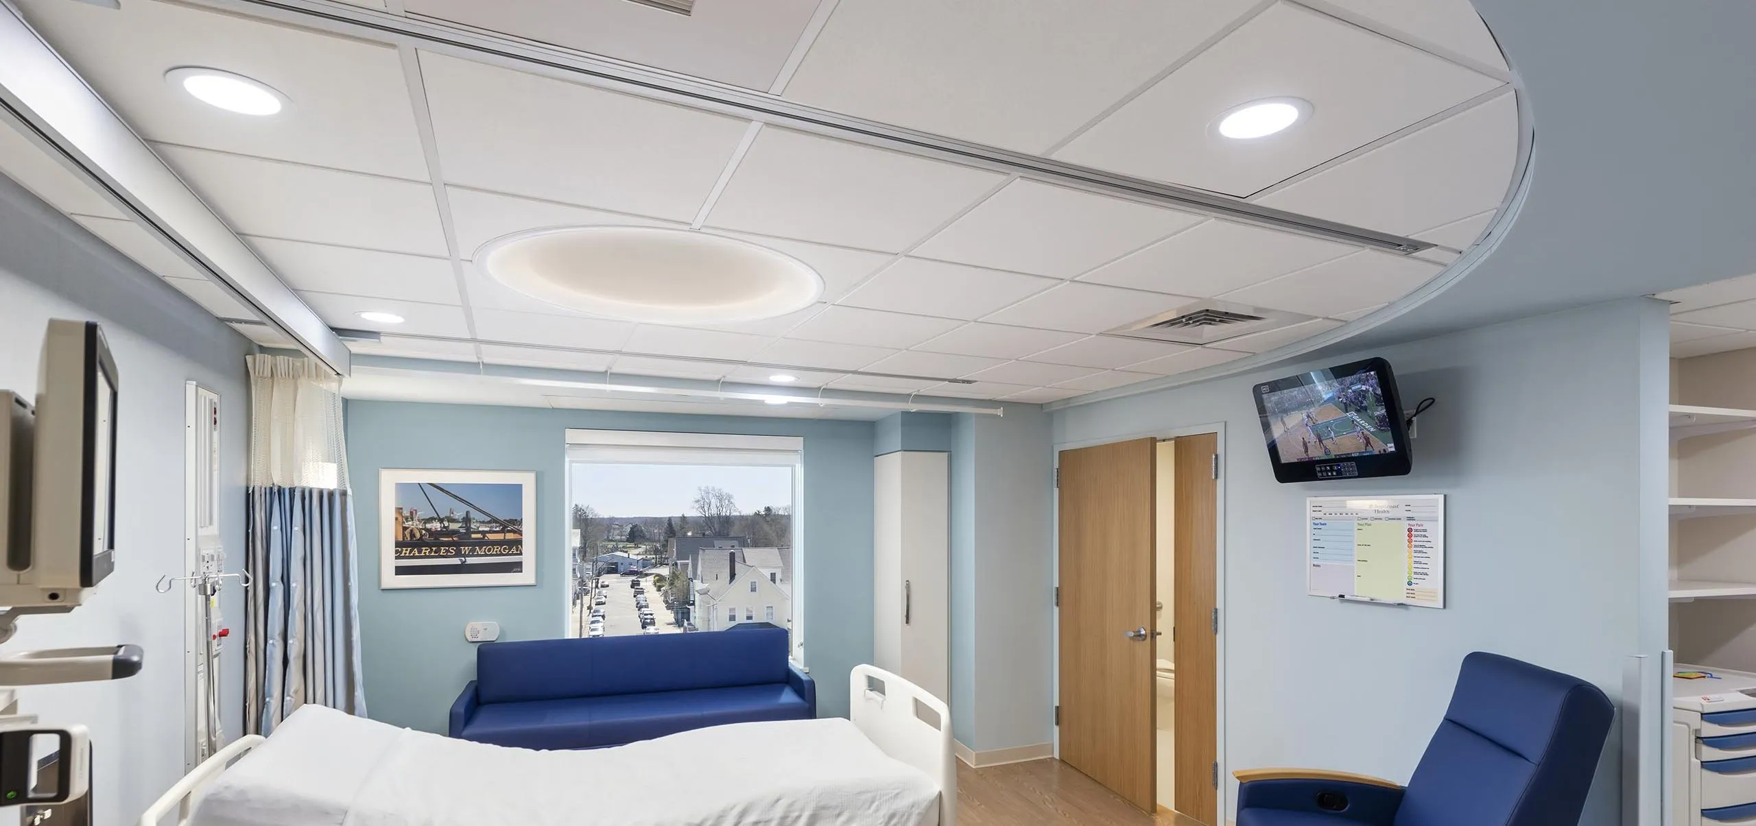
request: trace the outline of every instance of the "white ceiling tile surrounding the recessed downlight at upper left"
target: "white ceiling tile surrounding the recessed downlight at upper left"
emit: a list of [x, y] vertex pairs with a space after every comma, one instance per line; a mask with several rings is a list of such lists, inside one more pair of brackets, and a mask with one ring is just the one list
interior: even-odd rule
[[[181, 4], [25, 7], [32, 26], [148, 140], [428, 179], [393, 46]], [[241, 74], [290, 105], [267, 117], [211, 107], [165, 81], [176, 67]]]

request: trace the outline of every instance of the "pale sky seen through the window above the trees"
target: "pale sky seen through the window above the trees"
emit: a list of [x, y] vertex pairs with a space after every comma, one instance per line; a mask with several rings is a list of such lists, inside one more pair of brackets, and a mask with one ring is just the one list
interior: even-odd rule
[[748, 514], [792, 507], [792, 468], [725, 465], [572, 465], [572, 502], [602, 516], [695, 516], [695, 489], [723, 488]]

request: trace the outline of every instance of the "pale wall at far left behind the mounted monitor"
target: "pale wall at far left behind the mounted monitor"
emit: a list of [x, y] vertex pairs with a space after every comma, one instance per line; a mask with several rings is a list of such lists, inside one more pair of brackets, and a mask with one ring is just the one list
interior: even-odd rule
[[[0, 652], [123, 642], [146, 649], [146, 665], [132, 679], [19, 693], [23, 712], [91, 730], [95, 822], [114, 826], [133, 822], [183, 775], [183, 596], [153, 591], [162, 573], [183, 568], [183, 382], [195, 379], [221, 395], [221, 530], [237, 568], [249, 437], [244, 354], [251, 344], [0, 177], [0, 388], [35, 396], [51, 317], [102, 323], [116, 356], [116, 572], [72, 614], [23, 617], [18, 637]], [[242, 631], [242, 603], [235, 589], [230, 596], [227, 617]], [[227, 735], [235, 737], [242, 644], [227, 654], [223, 714]]]

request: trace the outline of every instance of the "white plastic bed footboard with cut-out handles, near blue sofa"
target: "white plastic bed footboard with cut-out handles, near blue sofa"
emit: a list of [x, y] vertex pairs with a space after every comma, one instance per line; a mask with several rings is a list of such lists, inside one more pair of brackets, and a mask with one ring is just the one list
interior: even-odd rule
[[920, 686], [873, 665], [848, 677], [848, 717], [892, 759], [908, 763], [939, 786], [939, 826], [957, 826], [957, 758], [952, 712]]

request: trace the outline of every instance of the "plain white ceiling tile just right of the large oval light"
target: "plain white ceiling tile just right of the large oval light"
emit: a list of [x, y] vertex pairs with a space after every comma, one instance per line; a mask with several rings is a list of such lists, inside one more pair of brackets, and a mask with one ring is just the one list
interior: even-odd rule
[[975, 319], [1059, 284], [1054, 279], [904, 258], [850, 293], [841, 303], [873, 310], [925, 312]]

